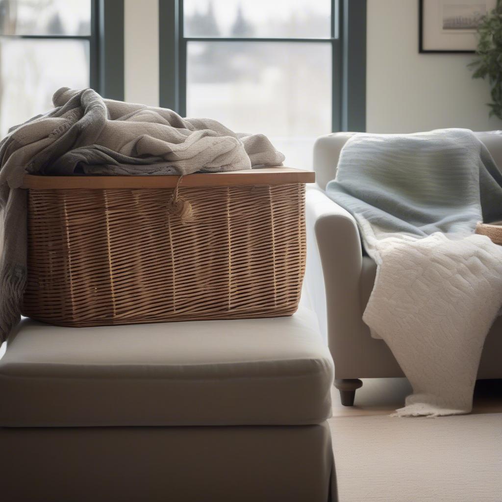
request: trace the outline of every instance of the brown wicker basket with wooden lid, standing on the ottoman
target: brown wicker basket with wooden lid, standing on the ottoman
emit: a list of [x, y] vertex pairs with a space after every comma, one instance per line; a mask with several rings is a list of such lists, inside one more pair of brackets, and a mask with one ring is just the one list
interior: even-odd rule
[[[23, 314], [64, 326], [291, 315], [313, 177], [26, 176]], [[183, 200], [191, 214], [180, 214]]]

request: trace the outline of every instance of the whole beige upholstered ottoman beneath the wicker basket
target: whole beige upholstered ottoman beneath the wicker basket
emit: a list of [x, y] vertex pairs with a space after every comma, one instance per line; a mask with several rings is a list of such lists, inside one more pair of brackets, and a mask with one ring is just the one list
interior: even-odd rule
[[0, 359], [5, 502], [327, 502], [333, 364], [312, 312], [64, 328]]

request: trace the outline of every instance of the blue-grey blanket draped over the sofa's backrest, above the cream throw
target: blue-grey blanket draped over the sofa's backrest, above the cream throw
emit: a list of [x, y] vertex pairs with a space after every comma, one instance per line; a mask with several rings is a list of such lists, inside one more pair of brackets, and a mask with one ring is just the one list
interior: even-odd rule
[[417, 236], [502, 219], [502, 174], [464, 129], [356, 135], [326, 193], [358, 221]]

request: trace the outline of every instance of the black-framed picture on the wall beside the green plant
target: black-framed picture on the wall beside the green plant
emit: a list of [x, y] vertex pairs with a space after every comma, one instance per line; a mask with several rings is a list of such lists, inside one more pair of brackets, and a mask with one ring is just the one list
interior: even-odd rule
[[419, 0], [419, 52], [474, 52], [480, 20], [496, 0]]

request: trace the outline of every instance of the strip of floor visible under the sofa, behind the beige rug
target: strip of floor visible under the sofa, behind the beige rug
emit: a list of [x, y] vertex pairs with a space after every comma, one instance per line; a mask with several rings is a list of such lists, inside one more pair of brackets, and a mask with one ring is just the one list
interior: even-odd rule
[[[362, 381], [362, 387], [355, 393], [353, 407], [342, 406], [340, 395], [333, 389], [333, 416], [360, 417], [388, 415], [404, 406], [404, 400], [411, 393], [406, 379], [369, 379]], [[502, 413], [502, 380], [480, 380], [474, 391], [473, 413]]]

